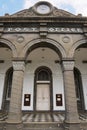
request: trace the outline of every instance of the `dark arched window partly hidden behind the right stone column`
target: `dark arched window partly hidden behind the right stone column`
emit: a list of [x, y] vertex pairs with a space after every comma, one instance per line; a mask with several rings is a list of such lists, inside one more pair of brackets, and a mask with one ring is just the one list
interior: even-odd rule
[[77, 108], [78, 110], [84, 109], [84, 97], [82, 89], [81, 73], [77, 68], [74, 68], [75, 86], [76, 86], [76, 97], [77, 97]]

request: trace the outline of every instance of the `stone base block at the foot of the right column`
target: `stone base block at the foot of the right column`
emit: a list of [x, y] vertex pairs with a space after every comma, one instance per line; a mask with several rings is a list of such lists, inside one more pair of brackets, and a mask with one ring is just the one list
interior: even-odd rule
[[64, 123], [64, 130], [81, 130], [78, 123]]

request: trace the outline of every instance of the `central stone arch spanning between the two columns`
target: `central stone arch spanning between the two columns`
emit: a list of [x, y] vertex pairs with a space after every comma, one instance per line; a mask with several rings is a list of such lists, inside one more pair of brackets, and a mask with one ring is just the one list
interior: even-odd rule
[[34, 46], [34, 45], [35, 46], [38, 45], [39, 47], [41, 47], [41, 46], [47, 47], [47, 45], [48, 46], [50, 45], [51, 47], [55, 48], [55, 51], [58, 52], [59, 55], [61, 55], [62, 58], [66, 57], [66, 51], [65, 51], [64, 47], [60, 43], [58, 43], [57, 41], [55, 41], [53, 39], [48, 39], [48, 38], [46, 38], [46, 39], [40, 39], [39, 38], [39, 39], [34, 39], [34, 40], [28, 42], [25, 45], [25, 47], [24, 47], [24, 49], [21, 53], [21, 56], [27, 57], [27, 53], [29, 53], [32, 50], [31, 47]]

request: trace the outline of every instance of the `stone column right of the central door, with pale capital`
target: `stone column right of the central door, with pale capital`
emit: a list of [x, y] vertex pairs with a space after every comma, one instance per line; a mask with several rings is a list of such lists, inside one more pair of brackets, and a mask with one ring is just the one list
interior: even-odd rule
[[80, 130], [74, 82], [74, 61], [62, 61], [65, 90], [65, 129]]

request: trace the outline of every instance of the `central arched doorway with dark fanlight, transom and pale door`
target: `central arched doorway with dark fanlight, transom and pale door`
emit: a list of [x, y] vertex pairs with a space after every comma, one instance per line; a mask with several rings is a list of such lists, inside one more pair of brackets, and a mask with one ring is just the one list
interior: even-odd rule
[[50, 111], [52, 109], [52, 73], [47, 67], [40, 67], [35, 72], [36, 111]]

